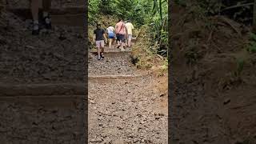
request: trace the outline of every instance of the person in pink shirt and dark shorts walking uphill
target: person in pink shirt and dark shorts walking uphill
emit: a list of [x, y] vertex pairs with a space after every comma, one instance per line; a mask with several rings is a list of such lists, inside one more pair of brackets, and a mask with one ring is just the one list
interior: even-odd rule
[[118, 48], [121, 45], [120, 49], [124, 50], [123, 46], [125, 42], [125, 36], [127, 34], [127, 28], [126, 28], [126, 24], [122, 21], [122, 18], [120, 18], [118, 23], [115, 25], [115, 34], [118, 40]]

